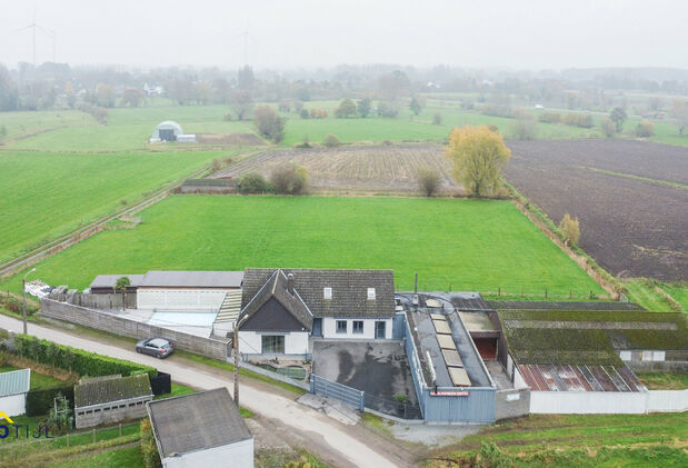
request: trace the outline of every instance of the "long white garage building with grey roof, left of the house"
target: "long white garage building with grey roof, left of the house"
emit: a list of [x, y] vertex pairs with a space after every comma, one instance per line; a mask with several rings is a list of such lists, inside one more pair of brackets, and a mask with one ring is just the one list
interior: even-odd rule
[[137, 288], [137, 307], [217, 312], [242, 280], [243, 271], [149, 271]]

